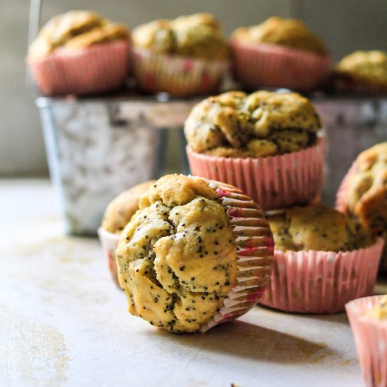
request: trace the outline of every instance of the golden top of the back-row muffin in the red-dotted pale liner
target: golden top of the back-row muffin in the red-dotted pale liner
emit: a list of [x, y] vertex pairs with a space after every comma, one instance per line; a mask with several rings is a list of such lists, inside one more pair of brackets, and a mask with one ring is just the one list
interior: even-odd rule
[[155, 20], [133, 31], [134, 46], [157, 53], [202, 59], [227, 58], [220, 23], [209, 13]]

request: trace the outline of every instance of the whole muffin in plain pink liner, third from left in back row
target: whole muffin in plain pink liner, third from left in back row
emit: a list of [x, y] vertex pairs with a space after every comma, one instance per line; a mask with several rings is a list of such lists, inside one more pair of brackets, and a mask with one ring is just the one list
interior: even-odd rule
[[235, 78], [246, 87], [312, 90], [329, 74], [324, 42], [300, 20], [273, 17], [238, 28], [230, 47]]

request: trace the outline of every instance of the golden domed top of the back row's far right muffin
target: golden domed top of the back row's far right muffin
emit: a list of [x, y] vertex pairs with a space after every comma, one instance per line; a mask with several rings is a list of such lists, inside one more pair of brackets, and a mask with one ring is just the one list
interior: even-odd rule
[[355, 51], [341, 59], [335, 73], [387, 87], [387, 53], [377, 50]]

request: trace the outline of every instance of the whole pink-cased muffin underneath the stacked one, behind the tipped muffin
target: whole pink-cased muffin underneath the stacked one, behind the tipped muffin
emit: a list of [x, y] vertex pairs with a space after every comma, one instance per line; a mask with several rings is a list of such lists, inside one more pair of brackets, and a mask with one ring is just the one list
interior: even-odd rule
[[260, 303], [288, 312], [340, 312], [372, 294], [383, 241], [350, 217], [323, 205], [267, 215], [274, 269]]

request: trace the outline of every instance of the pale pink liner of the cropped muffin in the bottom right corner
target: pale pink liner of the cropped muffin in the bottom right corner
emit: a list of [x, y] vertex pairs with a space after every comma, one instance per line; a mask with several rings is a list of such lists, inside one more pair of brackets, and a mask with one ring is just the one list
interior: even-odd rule
[[369, 387], [387, 386], [387, 320], [366, 315], [381, 297], [360, 298], [345, 305], [364, 381]]

